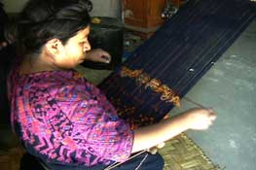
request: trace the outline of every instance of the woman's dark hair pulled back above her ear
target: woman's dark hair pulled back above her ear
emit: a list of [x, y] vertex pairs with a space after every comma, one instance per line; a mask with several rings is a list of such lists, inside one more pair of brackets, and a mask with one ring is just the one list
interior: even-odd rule
[[53, 38], [65, 44], [90, 24], [91, 9], [90, 0], [29, 0], [6, 38], [24, 54], [40, 52]]

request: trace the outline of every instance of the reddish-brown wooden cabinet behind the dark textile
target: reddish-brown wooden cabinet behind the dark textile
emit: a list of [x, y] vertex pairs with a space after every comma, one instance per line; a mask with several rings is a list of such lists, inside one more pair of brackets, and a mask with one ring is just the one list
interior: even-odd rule
[[166, 0], [123, 0], [123, 14], [126, 27], [146, 37], [160, 27]]

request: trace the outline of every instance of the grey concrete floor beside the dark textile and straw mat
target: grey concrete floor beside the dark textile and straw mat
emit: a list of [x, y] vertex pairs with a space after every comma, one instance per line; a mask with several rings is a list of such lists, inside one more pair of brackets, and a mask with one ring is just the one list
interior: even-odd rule
[[[94, 84], [110, 73], [83, 67], [78, 70]], [[208, 130], [187, 132], [206, 155], [221, 169], [256, 170], [256, 21], [186, 97], [213, 108], [218, 115]], [[192, 107], [195, 105], [182, 100], [182, 108], [174, 108], [170, 115]]]

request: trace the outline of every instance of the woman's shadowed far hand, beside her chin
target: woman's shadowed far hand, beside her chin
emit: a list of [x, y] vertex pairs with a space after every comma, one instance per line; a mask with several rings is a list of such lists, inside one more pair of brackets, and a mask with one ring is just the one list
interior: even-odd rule
[[95, 49], [86, 53], [86, 59], [94, 62], [110, 63], [111, 55], [102, 49]]

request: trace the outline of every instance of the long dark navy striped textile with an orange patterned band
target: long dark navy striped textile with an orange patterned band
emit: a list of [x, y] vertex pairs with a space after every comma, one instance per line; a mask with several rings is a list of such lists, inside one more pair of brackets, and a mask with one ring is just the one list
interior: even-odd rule
[[254, 18], [249, 0], [190, 1], [99, 87], [134, 126], [157, 122]]

